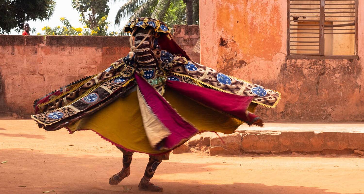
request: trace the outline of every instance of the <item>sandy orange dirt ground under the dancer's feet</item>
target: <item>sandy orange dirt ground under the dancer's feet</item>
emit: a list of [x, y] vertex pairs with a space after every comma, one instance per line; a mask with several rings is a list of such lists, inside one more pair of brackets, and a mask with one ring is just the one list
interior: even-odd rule
[[[135, 154], [130, 177], [118, 186], [108, 178], [121, 169], [122, 154], [92, 131], [45, 132], [32, 120], [0, 120], [0, 193], [113, 194], [138, 191], [148, 157]], [[153, 183], [164, 193], [364, 193], [358, 157], [211, 157], [171, 154]], [[26, 186], [26, 187], [20, 187]]]

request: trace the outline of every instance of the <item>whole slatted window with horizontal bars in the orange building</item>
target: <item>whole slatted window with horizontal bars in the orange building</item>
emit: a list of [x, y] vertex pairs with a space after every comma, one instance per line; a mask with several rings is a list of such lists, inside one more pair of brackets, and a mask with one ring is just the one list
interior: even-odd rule
[[287, 58], [358, 59], [359, 0], [288, 0]]

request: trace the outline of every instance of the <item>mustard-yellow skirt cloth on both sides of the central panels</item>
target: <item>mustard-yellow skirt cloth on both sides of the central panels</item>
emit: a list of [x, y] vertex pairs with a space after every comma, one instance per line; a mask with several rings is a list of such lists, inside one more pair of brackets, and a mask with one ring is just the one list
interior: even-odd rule
[[[211, 108], [168, 90], [168, 88], [166, 88], [163, 97], [179, 115], [193, 124], [200, 132], [213, 131], [230, 134], [242, 124], [238, 119], [211, 110]], [[131, 151], [148, 154], [161, 154], [169, 151], [156, 150], [151, 146], [143, 128], [137, 91], [115, 100], [94, 114], [78, 120], [68, 128], [72, 132], [93, 130], [117, 146]]]

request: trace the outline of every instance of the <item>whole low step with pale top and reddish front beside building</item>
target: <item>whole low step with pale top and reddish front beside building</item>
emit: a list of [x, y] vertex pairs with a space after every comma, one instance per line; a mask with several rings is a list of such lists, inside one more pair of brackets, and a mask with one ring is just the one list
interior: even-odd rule
[[356, 152], [364, 155], [364, 123], [268, 123], [265, 127], [242, 125], [233, 134], [198, 134], [182, 147], [174, 152], [202, 150], [210, 155]]

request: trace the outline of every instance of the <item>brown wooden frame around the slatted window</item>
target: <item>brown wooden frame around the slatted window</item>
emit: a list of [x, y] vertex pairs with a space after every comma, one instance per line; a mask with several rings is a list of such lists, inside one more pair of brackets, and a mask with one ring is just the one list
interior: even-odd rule
[[[324, 55], [324, 47], [325, 47], [325, 0], [317, 0], [320, 1], [320, 34], [319, 34], [319, 55], [290, 55], [290, 4], [292, 0], [287, 0], [287, 59], [356, 59], [359, 60], [358, 56], [358, 12], [359, 12], [359, 0], [355, 1], [355, 55]], [[296, 0], [293, 0], [296, 1]], [[329, 1], [329, 0], [328, 0]], [[335, 0], [334, 0], [335, 1]]]

